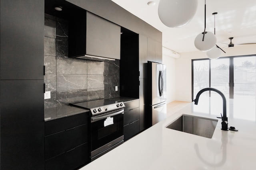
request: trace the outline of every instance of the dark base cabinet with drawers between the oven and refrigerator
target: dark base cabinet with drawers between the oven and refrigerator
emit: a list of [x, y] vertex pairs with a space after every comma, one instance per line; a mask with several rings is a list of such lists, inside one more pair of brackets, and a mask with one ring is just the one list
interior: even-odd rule
[[124, 102], [124, 141], [140, 132], [139, 100]]

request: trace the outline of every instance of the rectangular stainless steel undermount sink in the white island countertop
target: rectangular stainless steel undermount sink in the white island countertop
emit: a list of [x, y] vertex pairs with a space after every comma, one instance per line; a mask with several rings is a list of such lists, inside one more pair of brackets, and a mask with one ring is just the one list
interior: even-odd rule
[[183, 114], [166, 128], [212, 138], [217, 123], [217, 119]]

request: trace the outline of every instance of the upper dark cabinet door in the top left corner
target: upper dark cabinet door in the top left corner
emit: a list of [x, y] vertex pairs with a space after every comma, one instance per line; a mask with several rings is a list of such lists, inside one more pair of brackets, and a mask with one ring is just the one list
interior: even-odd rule
[[0, 79], [44, 79], [44, 1], [1, 0], [0, 12]]

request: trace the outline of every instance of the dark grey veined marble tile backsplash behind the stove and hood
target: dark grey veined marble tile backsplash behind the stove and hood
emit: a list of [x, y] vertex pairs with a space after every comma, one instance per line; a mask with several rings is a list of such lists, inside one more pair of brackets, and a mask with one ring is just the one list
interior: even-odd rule
[[68, 21], [45, 14], [44, 25], [45, 109], [119, 96], [119, 60], [68, 58]]

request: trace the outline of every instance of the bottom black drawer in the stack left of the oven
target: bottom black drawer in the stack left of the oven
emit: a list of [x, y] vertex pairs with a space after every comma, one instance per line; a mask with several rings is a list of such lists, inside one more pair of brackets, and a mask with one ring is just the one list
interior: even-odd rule
[[73, 170], [89, 163], [88, 143], [45, 161], [46, 170]]

